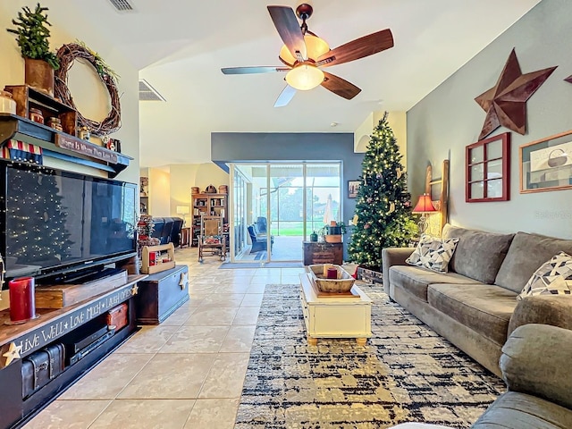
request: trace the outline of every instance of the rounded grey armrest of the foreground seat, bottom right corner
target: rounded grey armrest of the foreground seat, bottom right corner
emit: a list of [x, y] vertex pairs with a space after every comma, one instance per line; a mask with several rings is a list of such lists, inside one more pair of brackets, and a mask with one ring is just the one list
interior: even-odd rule
[[572, 331], [526, 324], [502, 347], [501, 371], [509, 391], [519, 391], [572, 408]]

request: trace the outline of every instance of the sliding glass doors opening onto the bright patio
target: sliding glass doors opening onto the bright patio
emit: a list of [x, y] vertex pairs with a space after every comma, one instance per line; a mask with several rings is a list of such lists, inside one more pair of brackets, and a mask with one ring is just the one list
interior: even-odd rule
[[231, 262], [300, 262], [303, 241], [341, 220], [341, 162], [231, 164], [230, 198]]

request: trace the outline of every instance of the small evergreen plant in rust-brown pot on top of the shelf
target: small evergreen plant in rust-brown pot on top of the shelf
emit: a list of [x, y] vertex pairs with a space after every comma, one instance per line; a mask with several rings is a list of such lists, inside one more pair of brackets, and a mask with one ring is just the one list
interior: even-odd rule
[[24, 58], [24, 82], [54, 97], [54, 71], [60, 68], [55, 53], [50, 51], [49, 37], [51, 26], [47, 21], [47, 7], [38, 3], [35, 10], [22, 7], [18, 19], [12, 20], [16, 29], [7, 29], [16, 34], [21, 56]]

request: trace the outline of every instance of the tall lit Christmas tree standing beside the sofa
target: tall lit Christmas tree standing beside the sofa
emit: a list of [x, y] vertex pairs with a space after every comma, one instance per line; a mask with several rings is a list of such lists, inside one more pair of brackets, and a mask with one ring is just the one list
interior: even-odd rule
[[380, 270], [382, 248], [407, 246], [417, 233], [401, 155], [387, 112], [370, 136], [362, 168], [349, 259]]

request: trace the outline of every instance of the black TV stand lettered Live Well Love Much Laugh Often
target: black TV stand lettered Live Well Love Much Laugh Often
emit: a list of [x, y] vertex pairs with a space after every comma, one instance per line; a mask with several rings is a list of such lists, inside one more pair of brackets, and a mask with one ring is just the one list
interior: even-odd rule
[[[9, 310], [0, 311], [0, 428], [20, 427], [26, 423], [138, 330], [134, 297], [139, 291], [138, 282], [145, 278], [147, 275], [129, 275], [122, 286], [70, 307], [38, 308], [40, 317], [26, 324], [5, 324], [10, 320]], [[90, 321], [105, 318], [108, 310], [123, 302], [128, 305], [128, 324], [125, 327], [86, 357], [65, 366], [61, 374], [28, 398], [22, 399], [22, 358], [61, 341], [64, 335]], [[13, 349], [19, 349], [19, 356], [11, 354]], [[8, 362], [8, 357], [15, 358]]]

